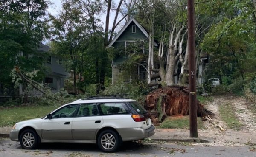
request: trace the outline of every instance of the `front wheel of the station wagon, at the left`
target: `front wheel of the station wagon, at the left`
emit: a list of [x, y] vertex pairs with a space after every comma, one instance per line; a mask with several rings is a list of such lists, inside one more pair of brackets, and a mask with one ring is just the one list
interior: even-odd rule
[[23, 149], [36, 149], [39, 141], [37, 133], [31, 129], [24, 130], [20, 135], [20, 146]]

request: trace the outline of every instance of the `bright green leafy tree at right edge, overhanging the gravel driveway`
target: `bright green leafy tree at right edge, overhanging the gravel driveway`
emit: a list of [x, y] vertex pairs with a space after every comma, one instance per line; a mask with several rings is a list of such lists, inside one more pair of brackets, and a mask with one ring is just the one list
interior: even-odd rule
[[255, 65], [254, 0], [221, 1], [218, 5], [213, 1], [207, 8], [213, 10], [211, 15], [215, 17], [201, 44], [211, 57], [208, 74], [246, 81], [247, 76], [255, 74], [251, 68]]

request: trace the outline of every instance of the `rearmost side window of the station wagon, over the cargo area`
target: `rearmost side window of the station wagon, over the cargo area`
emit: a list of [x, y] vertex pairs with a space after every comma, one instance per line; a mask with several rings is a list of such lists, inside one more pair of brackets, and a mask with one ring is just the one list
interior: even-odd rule
[[102, 115], [128, 114], [129, 110], [124, 103], [102, 103], [99, 105]]

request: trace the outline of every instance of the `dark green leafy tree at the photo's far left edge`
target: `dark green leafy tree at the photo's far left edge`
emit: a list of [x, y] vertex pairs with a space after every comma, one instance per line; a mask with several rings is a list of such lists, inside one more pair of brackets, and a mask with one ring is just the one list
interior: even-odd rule
[[10, 76], [14, 66], [23, 72], [40, 70], [34, 79], [42, 79], [45, 60], [37, 48], [48, 37], [47, 20], [44, 19], [48, 4], [48, 0], [0, 2], [0, 80], [3, 86], [10, 84], [14, 88]]

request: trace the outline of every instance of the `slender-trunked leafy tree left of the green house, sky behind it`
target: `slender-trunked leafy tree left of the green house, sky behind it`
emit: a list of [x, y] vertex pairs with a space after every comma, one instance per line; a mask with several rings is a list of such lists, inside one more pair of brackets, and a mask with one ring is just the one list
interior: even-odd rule
[[67, 68], [72, 70], [74, 92], [77, 94], [77, 67], [80, 45], [91, 27], [82, 20], [82, 12], [77, 0], [64, 0], [60, 14], [50, 15], [52, 21], [52, 52], [67, 59]]

